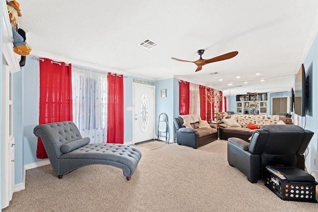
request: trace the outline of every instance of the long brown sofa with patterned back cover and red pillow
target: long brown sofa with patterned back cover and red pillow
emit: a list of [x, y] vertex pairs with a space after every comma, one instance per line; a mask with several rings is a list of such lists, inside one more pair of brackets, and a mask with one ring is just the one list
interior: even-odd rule
[[220, 139], [237, 137], [249, 142], [255, 130], [273, 124], [293, 124], [293, 122], [286, 115], [233, 114], [230, 118], [222, 119], [219, 127]]

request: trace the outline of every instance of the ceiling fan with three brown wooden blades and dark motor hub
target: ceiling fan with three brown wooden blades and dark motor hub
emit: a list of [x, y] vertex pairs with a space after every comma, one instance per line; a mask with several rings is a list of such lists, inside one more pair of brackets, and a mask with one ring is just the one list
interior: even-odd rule
[[221, 61], [221, 60], [227, 60], [230, 59], [232, 57], [235, 57], [239, 54], [238, 51], [234, 51], [234, 52], [229, 52], [211, 59], [202, 59], [202, 55], [204, 53], [204, 49], [200, 49], [197, 51], [197, 53], [200, 55], [200, 59], [196, 60], [196, 61], [188, 61], [188, 60], [181, 60], [181, 59], [177, 59], [174, 57], [171, 57], [171, 59], [173, 60], [177, 60], [177, 61], [181, 61], [181, 62], [191, 62], [191, 63], [195, 63], [195, 65], [198, 66], [198, 68], [195, 70], [195, 72], [200, 71], [202, 69], [202, 66], [208, 64], [208, 63], [213, 63], [213, 62], [217, 62], [217, 61]]

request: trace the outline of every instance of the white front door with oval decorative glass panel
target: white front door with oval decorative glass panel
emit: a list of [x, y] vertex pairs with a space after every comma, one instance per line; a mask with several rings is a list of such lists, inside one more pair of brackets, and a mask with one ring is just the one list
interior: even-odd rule
[[133, 144], [155, 138], [156, 87], [133, 83]]

